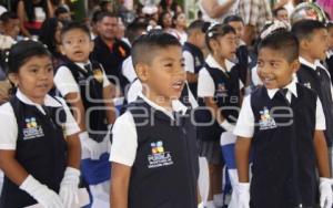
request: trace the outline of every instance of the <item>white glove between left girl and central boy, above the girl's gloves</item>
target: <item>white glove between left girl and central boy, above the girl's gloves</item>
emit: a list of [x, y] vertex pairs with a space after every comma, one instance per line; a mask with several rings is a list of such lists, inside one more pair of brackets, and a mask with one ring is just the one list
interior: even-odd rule
[[100, 153], [98, 152], [98, 146], [99, 143], [93, 141], [92, 138], [89, 138], [89, 135], [87, 132], [82, 132], [79, 134], [79, 138], [81, 142], [81, 147], [82, 147], [82, 158], [89, 155], [89, 158], [91, 159], [99, 159], [100, 158]]

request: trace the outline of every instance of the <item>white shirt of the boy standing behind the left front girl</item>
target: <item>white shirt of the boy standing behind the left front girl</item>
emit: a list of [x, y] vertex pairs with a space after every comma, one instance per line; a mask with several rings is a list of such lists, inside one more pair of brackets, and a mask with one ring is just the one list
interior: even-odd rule
[[[88, 62], [88, 63], [90, 63], [90, 62]], [[81, 67], [82, 70], [85, 70], [84, 65], [88, 63], [75, 63], [75, 64], [79, 67]], [[110, 85], [110, 82], [109, 82], [103, 69], [102, 69], [102, 71], [103, 71], [103, 87], [107, 87]], [[69, 93], [80, 93], [79, 84], [77, 83], [73, 74], [64, 65], [60, 66], [57, 70], [53, 82], [54, 82], [57, 90], [60, 92], [60, 94], [62, 96], [65, 96]]]

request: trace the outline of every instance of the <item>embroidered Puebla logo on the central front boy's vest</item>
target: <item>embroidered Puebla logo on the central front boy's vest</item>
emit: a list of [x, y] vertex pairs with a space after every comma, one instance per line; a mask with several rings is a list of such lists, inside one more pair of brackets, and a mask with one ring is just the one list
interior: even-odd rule
[[170, 152], [165, 152], [163, 142], [151, 143], [151, 155], [148, 156], [148, 168], [173, 165]]

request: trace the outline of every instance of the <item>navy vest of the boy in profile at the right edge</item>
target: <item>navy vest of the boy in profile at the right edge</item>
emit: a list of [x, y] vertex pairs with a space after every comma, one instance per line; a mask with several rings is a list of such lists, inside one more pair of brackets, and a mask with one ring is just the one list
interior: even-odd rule
[[301, 64], [301, 67], [296, 74], [297, 74], [299, 83], [314, 90], [317, 93], [319, 97], [321, 98], [323, 111], [325, 114], [325, 122], [326, 122], [326, 131], [324, 131], [324, 134], [325, 134], [327, 146], [330, 147], [332, 146], [332, 142], [333, 142], [333, 128], [332, 128], [333, 126], [332, 102], [331, 103], [325, 103], [324, 100], [322, 98], [323, 95], [321, 90], [321, 82], [319, 75], [313, 69], [304, 64]]

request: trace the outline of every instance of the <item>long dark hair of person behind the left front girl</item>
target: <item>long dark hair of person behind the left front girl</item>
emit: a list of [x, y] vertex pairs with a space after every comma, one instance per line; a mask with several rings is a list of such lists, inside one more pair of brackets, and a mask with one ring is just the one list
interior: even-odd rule
[[56, 53], [57, 41], [56, 41], [56, 31], [58, 28], [59, 21], [57, 18], [47, 19], [39, 34], [39, 41], [48, 46], [52, 54]]

